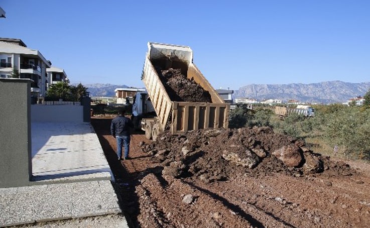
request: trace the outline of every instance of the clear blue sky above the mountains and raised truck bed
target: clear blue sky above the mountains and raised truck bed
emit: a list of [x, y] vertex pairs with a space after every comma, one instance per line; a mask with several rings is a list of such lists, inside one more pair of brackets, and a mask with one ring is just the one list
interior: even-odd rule
[[214, 88], [370, 81], [370, 1], [0, 0], [19, 38], [72, 83], [144, 87], [147, 42], [190, 46]]

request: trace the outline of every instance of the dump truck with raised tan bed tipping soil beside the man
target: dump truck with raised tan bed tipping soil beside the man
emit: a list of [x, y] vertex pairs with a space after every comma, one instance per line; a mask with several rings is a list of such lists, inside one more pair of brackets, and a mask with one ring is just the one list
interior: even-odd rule
[[[189, 80], [194, 80], [209, 92], [211, 102], [172, 100], [156, 70], [158, 68], [181, 69]], [[140, 123], [146, 138], [156, 141], [164, 131], [180, 135], [198, 129], [228, 128], [230, 105], [225, 103], [193, 63], [190, 47], [148, 42], [141, 79], [146, 92], [138, 93], [135, 98], [133, 121], [134, 124]]]

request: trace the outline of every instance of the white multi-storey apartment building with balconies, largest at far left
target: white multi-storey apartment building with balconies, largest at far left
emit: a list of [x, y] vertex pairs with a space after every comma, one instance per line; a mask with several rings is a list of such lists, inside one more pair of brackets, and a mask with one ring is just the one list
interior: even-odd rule
[[45, 97], [48, 89], [46, 69], [51, 62], [34, 49], [27, 48], [20, 39], [0, 38], [0, 77], [10, 78], [17, 71], [20, 78], [32, 79], [31, 97]]

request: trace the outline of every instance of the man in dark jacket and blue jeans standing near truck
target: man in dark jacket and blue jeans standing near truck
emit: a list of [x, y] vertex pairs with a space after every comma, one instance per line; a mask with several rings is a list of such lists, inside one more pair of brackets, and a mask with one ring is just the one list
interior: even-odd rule
[[118, 160], [122, 159], [122, 144], [125, 148], [125, 160], [129, 159], [131, 130], [133, 122], [125, 117], [125, 109], [119, 111], [119, 116], [112, 120], [110, 134], [117, 140]]

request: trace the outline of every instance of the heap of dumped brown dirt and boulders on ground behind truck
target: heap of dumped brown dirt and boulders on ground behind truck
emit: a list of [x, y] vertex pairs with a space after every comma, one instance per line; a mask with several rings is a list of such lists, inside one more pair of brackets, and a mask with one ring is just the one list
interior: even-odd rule
[[329, 169], [333, 175], [354, 172], [308, 150], [303, 141], [275, 134], [268, 127], [198, 130], [182, 136], [164, 133], [158, 142], [143, 143], [142, 150], [161, 164], [164, 176], [206, 183], [240, 175], [303, 176]]

